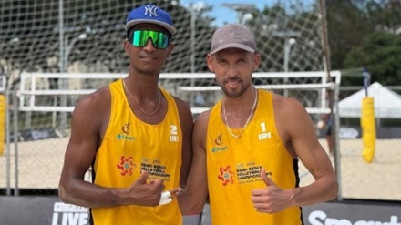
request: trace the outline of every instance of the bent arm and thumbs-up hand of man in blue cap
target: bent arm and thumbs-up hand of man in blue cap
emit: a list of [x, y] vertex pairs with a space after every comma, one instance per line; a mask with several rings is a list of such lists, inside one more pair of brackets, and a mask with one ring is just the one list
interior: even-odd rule
[[110, 102], [108, 88], [102, 88], [83, 97], [77, 104], [72, 117], [71, 138], [67, 145], [58, 196], [66, 203], [89, 208], [130, 204], [156, 206], [164, 185], [162, 180], [147, 183], [149, 176], [146, 172], [126, 189], [103, 188], [84, 180], [100, 145], [100, 132], [108, 125], [105, 121], [109, 119]]

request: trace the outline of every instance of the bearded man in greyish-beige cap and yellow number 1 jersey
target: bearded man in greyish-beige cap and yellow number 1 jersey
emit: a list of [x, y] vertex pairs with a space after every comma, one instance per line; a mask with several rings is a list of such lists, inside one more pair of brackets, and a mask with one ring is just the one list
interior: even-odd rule
[[[335, 199], [334, 168], [305, 108], [252, 85], [255, 49], [245, 26], [225, 25], [212, 37], [207, 64], [224, 96], [196, 118], [180, 209], [200, 214], [209, 195], [213, 225], [303, 224], [302, 206]], [[299, 159], [315, 179], [305, 187]]]

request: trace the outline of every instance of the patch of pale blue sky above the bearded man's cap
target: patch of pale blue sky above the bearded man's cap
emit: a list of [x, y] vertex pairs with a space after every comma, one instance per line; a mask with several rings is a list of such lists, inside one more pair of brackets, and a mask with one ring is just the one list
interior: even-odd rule
[[262, 0], [180, 0], [180, 4], [183, 6], [192, 5], [211, 5], [213, 6], [213, 11], [211, 15], [216, 18], [215, 25], [221, 25], [224, 22], [235, 23], [238, 22], [237, 13], [235, 10], [222, 6], [222, 4], [252, 4], [257, 8], [262, 9], [266, 5], [265, 1]]

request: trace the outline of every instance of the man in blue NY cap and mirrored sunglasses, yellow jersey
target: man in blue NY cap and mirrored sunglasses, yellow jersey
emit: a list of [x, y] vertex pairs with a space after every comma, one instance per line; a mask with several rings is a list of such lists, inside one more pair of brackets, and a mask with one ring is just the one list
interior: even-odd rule
[[128, 76], [77, 104], [59, 197], [90, 208], [95, 225], [182, 224], [173, 196], [190, 169], [193, 118], [158, 85], [176, 29], [156, 5], [133, 9], [125, 28]]

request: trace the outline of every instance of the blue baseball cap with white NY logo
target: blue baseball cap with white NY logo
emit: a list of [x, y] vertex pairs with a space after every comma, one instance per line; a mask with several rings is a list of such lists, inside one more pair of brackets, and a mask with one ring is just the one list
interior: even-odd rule
[[131, 26], [144, 23], [163, 26], [171, 35], [176, 33], [176, 29], [172, 26], [172, 19], [169, 13], [156, 5], [142, 5], [132, 9], [127, 16], [125, 29], [128, 31]]

